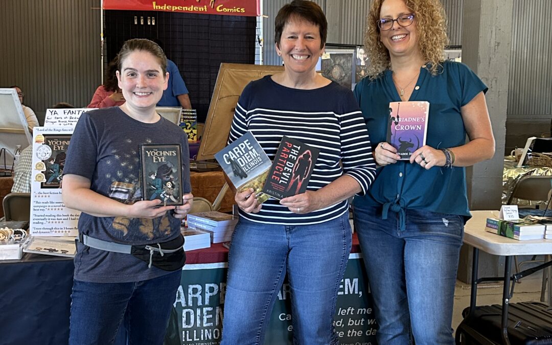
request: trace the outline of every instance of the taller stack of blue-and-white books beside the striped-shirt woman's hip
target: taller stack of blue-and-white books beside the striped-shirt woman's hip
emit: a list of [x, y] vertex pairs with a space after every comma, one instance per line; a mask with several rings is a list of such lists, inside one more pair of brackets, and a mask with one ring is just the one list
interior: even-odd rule
[[237, 216], [219, 211], [188, 215], [188, 228], [208, 232], [213, 243], [229, 242], [237, 222]]

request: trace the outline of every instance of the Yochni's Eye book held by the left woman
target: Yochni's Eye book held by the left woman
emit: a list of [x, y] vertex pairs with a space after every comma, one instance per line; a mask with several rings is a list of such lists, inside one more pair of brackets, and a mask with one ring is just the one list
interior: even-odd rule
[[161, 205], [182, 205], [181, 146], [140, 145], [142, 199], [162, 201]]

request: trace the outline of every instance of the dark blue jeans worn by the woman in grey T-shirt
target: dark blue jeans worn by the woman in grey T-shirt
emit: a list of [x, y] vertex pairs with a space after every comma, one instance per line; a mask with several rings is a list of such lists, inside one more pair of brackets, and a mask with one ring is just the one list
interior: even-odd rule
[[130, 345], [161, 345], [181, 275], [179, 269], [142, 282], [74, 280], [69, 344], [113, 344], [124, 320]]

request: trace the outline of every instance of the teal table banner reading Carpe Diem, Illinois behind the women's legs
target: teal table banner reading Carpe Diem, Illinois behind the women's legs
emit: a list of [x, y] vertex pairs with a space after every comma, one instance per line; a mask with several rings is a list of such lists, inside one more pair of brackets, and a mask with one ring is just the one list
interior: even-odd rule
[[[226, 272], [226, 263], [184, 266], [167, 328], [166, 345], [220, 343]], [[290, 297], [285, 281], [270, 316], [265, 345], [291, 344]], [[334, 325], [342, 345], [376, 344], [377, 326], [360, 254], [349, 256], [345, 277], [339, 286]]]

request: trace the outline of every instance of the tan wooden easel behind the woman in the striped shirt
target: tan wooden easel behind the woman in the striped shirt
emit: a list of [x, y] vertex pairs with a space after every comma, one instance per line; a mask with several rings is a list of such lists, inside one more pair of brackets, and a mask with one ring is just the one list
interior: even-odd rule
[[[283, 66], [244, 65], [242, 63], [221, 63], [216, 77], [215, 89], [209, 112], [205, 121], [203, 137], [199, 145], [197, 161], [213, 160], [215, 153], [226, 146], [230, 125], [238, 98], [251, 81], [284, 71]], [[224, 195], [229, 189], [228, 183], [213, 202], [213, 209], [220, 209]]]

